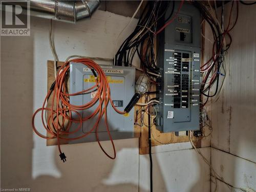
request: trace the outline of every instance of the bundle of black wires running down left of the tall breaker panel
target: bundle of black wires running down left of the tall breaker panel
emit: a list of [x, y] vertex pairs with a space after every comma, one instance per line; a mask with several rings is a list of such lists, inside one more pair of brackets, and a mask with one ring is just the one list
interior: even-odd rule
[[[155, 62], [155, 32], [158, 30], [159, 19], [165, 16], [170, 1], [148, 1], [139, 18], [133, 33], [127, 37], [115, 56], [115, 65], [132, 66], [134, 55], [137, 53], [144, 72], [156, 73], [159, 68]], [[174, 9], [174, 2], [172, 3]], [[169, 19], [173, 14], [167, 17]]]

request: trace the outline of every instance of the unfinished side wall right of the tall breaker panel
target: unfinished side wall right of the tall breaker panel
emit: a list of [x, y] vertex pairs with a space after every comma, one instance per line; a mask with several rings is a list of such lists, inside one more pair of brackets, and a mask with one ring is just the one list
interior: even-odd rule
[[[225, 6], [226, 18], [230, 5], [231, 2]], [[235, 5], [231, 23], [236, 18]], [[256, 191], [255, 10], [256, 5], [239, 4], [238, 23], [230, 32], [233, 41], [226, 56], [230, 73], [219, 100], [211, 103], [212, 166], [226, 182], [245, 191]], [[209, 34], [206, 30], [206, 36]], [[206, 40], [206, 51], [212, 47], [207, 45]], [[217, 191], [240, 191], [217, 182]], [[215, 186], [212, 180], [212, 191]]]

